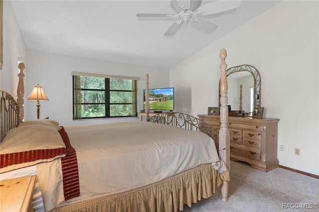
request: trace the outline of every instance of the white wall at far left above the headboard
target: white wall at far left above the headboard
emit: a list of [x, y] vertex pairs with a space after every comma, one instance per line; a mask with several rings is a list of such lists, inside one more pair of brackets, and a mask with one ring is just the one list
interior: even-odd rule
[[[26, 58], [26, 48], [10, 1], [3, 1], [2, 15], [3, 66], [0, 71], [0, 90], [7, 91], [17, 98], [18, 55]], [[27, 68], [24, 73], [26, 71]]]

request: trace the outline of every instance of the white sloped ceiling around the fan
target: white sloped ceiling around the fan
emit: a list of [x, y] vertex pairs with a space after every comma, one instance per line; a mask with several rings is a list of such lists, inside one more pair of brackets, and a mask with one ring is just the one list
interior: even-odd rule
[[[189, 0], [177, 0], [189, 5]], [[211, 3], [203, 0], [201, 5]], [[173, 13], [170, 0], [11, 0], [28, 50], [170, 68], [278, 1], [242, 0], [240, 7], [203, 18], [218, 25], [207, 33], [191, 23], [173, 36], [172, 17], [138, 18], [137, 13]], [[271, 23], [270, 23], [271, 24]]]

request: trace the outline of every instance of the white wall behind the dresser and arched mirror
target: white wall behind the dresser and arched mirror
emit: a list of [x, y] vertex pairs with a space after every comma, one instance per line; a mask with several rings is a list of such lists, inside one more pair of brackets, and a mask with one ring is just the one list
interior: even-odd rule
[[219, 51], [225, 48], [228, 67], [250, 64], [261, 74], [264, 117], [280, 118], [280, 165], [319, 175], [318, 8], [318, 1], [282, 1], [172, 67], [170, 86], [187, 91], [175, 94], [176, 110], [197, 115], [218, 106]]

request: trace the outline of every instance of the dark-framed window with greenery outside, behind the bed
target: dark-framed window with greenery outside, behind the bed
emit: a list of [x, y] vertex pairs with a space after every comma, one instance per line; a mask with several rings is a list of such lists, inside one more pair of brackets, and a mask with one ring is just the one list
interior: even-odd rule
[[137, 77], [72, 72], [73, 119], [137, 116]]

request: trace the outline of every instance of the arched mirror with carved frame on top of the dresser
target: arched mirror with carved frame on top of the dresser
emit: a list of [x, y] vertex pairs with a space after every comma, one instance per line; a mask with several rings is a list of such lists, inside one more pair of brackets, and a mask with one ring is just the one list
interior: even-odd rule
[[255, 67], [234, 66], [226, 70], [226, 76], [228, 105], [231, 106], [231, 110], [244, 110], [245, 113], [249, 113], [254, 107], [261, 106], [261, 78]]

